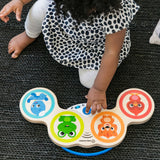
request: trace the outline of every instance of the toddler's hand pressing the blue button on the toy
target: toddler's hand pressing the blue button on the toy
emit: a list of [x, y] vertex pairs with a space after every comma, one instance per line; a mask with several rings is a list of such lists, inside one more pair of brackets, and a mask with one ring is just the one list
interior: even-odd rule
[[90, 88], [87, 98], [87, 106], [86, 112], [89, 112], [90, 107], [92, 106], [92, 114], [97, 112], [101, 112], [102, 107], [104, 109], [107, 108], [107, 101], [106, 101], [106, 92], [100, 91], [94, 87]]

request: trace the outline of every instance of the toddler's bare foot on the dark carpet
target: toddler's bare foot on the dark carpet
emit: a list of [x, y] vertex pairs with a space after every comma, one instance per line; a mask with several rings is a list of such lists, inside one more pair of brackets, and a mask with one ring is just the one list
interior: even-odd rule
[[8, 44], [8, 53], [12, 54], [12, 58], [17, 58], [20, 53], [36, 38], [30, 38], [27, 36], [26, 32], [13, 37]]

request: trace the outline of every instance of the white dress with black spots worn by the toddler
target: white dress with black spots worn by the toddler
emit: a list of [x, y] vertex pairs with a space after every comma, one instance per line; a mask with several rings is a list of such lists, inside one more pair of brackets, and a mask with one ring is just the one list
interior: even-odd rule
[[101, 14], [93, 24], [85, 21], [77, 27], [76, 21], [55, 14], [55, 2], [49, 7], [42, 25], [46, 47], [52, 57], [62, 65], [80, 69], [98, 70], [105, 50], [107, 34], [127, 29], [119, 64], [127, 57], [131, 42], [129, 24], [139, 9], [133, 0], [122, 0], [122, 8], [107, 16]]

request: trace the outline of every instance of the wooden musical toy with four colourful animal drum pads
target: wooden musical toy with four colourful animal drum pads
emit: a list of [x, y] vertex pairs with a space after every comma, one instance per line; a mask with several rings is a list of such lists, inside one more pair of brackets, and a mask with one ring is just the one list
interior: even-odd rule
[[24, 118], [42, 123], [51, 140], [61, 147], [115, 147], [124, 139], [127, 127], [148, 121], [154, 112], [154, 101], [145, 91], [132, 88], [123, 91], [116, 107], [94, 115], [85, 112], [86, 104], [62, 109], [55, 94], [46, 88], [27, 91], [20, 100]]

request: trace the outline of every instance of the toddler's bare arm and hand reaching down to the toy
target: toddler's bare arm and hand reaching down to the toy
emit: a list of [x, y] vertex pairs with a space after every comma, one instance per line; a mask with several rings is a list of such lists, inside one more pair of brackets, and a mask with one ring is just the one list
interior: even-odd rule
[[96, 111], [100, 112], [101, 107], [107, 108], [106, 90], [116, 72], [125, 33], [126, 30], [124, 29], [106, 36], [105, 52], [102, 57], [101, 66], [95, 82], [86, 96], [88, 99], [86, 112], [89, 112], [91, 106], [92, 114]]

